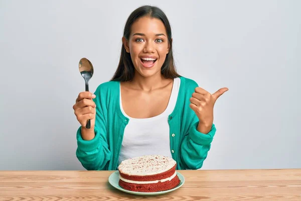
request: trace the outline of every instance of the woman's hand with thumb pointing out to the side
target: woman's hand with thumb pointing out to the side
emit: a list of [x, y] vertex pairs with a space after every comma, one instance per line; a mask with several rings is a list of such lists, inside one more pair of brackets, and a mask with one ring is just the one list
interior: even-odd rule
[[[228, 88], [220, 88], [215, 93], [210, 94], [201, 87], [196, 87], [195, 92], [190, 98], [190, 108], [196, 113], [199, 118], [198, 131], [207, 134], [213, 124], [213, 107], [214, 104]], [[208, 131], [209, 130], [209, 131]]]

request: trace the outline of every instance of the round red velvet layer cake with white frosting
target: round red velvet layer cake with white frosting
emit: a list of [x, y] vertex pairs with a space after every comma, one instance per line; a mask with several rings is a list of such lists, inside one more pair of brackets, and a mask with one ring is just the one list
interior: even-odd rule
[[177, 162], [161, 155], [139, 156], [124, 160], [118, 166], [119, 186], [137, 192], [158, 192], [180, 184]]

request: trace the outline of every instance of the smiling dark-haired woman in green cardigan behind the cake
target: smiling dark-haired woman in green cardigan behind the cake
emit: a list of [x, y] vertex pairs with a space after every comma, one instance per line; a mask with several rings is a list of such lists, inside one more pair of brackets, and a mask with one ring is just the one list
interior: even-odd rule
[[87, 170], [116, 170], [122, 160], [150, 154], [172, 157], [177, 169], [199, 169], [216, 132], [213, 106], [227, 90], [210, 94], [180, 76], [166, 15], [140, 7], [125, 24], [113, 78], [76, 99], [76, 156]]

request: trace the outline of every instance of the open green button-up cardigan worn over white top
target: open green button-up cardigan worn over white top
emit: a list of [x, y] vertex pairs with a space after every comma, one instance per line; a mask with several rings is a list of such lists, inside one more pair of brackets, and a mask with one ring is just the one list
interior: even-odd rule
[[[190, 97], [198, 84], [181, 78], [179, 95], [174, 111], [169, 115], [170, 149], [177, 169], [199, 169], [210, 150], [216, 128], [208, 134], [197, 131], [199, 119], [189, 107]], [[119, 81], [100, 84], [96, 91], [95, 137], [86, 141], [77, 130], [76, 156], [87, 170], [117, 170], [124, 128], [129, 122], [119, 105]]]

